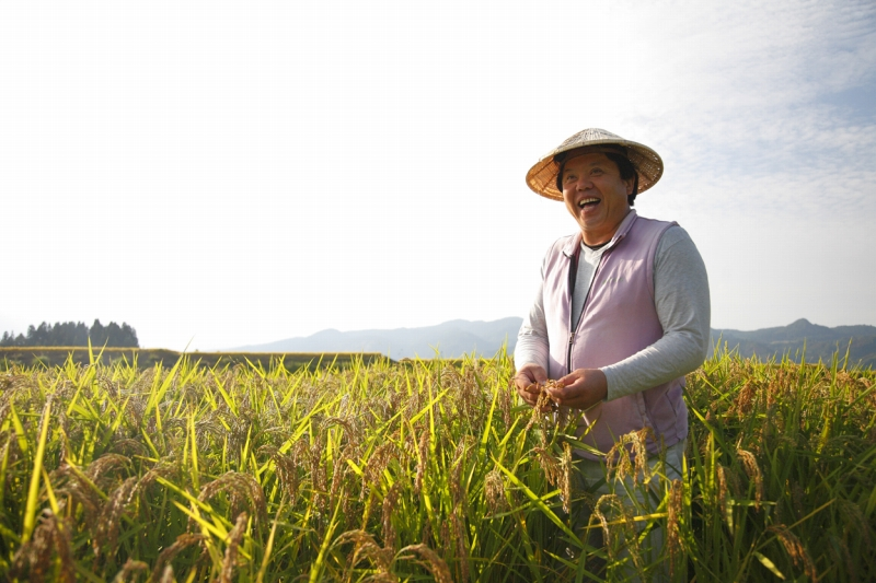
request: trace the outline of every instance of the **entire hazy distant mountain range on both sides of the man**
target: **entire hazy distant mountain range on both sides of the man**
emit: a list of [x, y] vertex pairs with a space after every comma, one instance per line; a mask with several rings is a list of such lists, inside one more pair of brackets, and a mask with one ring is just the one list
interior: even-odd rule
[[[249, 352], [382, 352], [392, 359], [459, 358], [475, 352], [492, 357], [503, 342], [508, 352], [517, 346], [517, 333], [522, 318], [509, 317], [494, 322], [454, 319], [424, 328], [391, 330], [356, 330], [342, 333], [322, 330], [306, 338], [288, 338], [266, 345], [241, 347]], [[721, 341], [742, 357], [757, 354], [760, 359], [788, 354], [799, 362], [804, 353], [808, 362], [830, 361], [839, 350], [840, 358], [849, 349], [849, 364], [876, 365], [876, 326], [837, 326], [828, 328], [798, 319], [788, 326], [740, 331], [713, 329], [712, 346]], [[850, 348], [851, 341], [851, 348]]]

